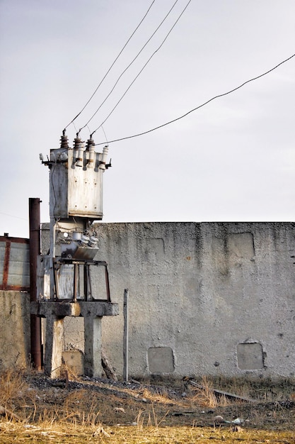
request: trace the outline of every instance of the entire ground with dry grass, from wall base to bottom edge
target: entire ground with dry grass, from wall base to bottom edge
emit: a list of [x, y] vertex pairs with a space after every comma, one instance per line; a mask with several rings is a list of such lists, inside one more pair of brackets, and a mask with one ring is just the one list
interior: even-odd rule
[[[39, 386], [31, 384], [27, 372], [11, 370], [0, 375], [0, 443], [284, 443], [295, 444], [292, 429], [295, 409], [281, 404], [265, 406], [265, 399], [292, 399], [295, 383], [286, 380], [262, 382], [245, 379], [220, 380], [203, 377], [198, 387], [183, 387], [183, 382], [158, 380], [158, 386], [87, 382], [64, 374], [64, 381], [52, 380]], [[40, 376], [44, 383], [44, 377]], [[72, 380], [77, 381], [76, 388]], [[83, 384], [82, 384], [83, 382]], [[153, 381], [155, 383], [155, 381]], [[162, 385], [161, 385], [162, 384]], [[171, 385], [172, 384], [172, 385]], [[171, 390], [171, 387], [173, 390]], [[177, 387], [177, 389], [176, 389]], [[262, 399], [261, 404], [233, 403], [216, 396], [213, 387], [241, 396]], [[183, 389], [187, 396], [182, 397]], [[176, 393], [178, 395], [172, 396]], [[250, 426], [233, 431], [231, 425], [209, 428], [212, 418], [222, 414], [233, 419], [243, 415]], [[260, 430], [264, 428], [265, 430]]]

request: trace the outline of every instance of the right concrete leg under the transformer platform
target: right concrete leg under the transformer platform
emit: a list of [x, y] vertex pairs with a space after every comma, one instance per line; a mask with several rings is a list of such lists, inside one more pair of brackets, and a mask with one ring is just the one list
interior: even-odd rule
[[84, 374], [101, 377], [101, 320], [102, 316], [84, 318]]

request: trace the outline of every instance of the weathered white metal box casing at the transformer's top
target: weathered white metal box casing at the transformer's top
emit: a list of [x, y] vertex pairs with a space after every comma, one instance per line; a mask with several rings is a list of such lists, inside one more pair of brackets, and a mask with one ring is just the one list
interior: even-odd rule
[[[67, 160], [60, 160], [64, 155]], [[103, 218], [103, 172], [100, 167], [102, 153], [83, 151], [83, 166], [76, 165], [76, 152], [68, 148], [50, 150], [50, 216], [71, 216], [101, 220]]]

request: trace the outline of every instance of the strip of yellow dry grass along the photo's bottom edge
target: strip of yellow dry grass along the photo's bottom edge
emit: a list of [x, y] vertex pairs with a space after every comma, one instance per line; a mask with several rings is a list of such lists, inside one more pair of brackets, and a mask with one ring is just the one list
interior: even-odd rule
[[93, 429], [73, 426], [29, 426], [24, 424], [0, 423], [0, 442], [21, 443], [128, 443], [128, 444], [193, 444], [222, 441], [224, 443], [284, 443], [294, 444], [294, 433], [274, 431], [233, 431], [231, 428], [161, 428], [148, 426], [141, 430], [134, 426], [98, 426]]

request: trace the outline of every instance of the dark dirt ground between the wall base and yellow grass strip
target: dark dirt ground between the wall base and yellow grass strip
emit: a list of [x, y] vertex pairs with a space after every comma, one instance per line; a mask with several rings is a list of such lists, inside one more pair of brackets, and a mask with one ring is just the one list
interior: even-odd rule
[[[196, 382], [202, 388], [196, 387]], [[248, 400], [216, 393], [214, 389]], [[23, 423], [27, 428], [59, 422], [80, 428], [152, 426], [222, 431], [230, 427], [234, 431], [241, 427], [243, 431], [295, 431], [295, 379], [197, 381], [155, 377], [114, 382], [71, 378], [67, 374], [63, 379], [50, 379], [43, 373], [11, 372], [1, 377], [0, 395], [0, 443], [10, 442], [1, 441], [4, 421]], [[232, 421], [237, 418], [242, 421], [236, 426]]]

